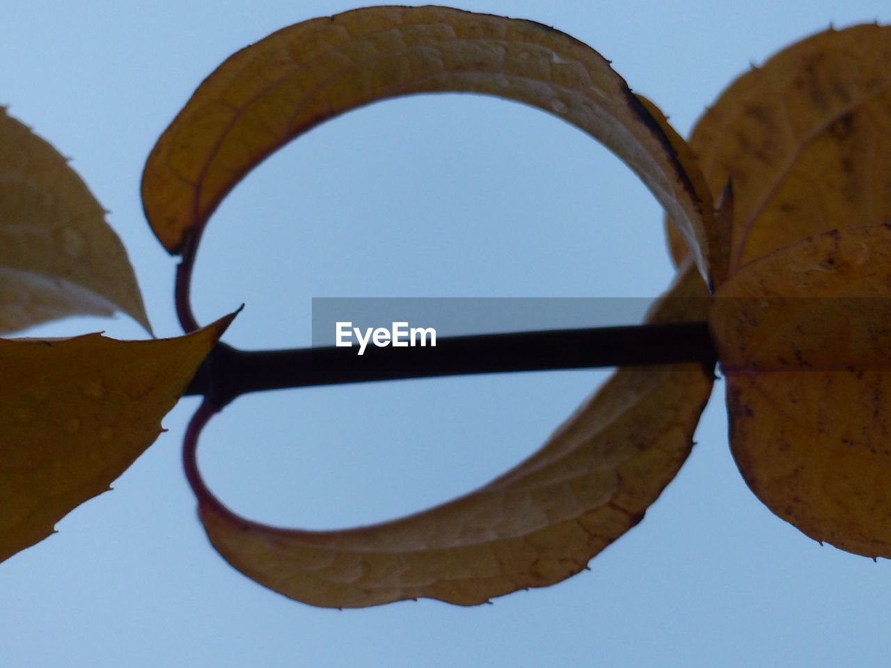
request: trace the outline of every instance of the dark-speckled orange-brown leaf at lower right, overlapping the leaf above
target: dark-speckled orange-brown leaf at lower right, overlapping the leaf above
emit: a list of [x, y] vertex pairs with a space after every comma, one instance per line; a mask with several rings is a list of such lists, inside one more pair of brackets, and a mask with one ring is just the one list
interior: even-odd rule
[[743, 477], [811, 538], [891, 558], [891, 227], [740, 269], [709, 316]]

